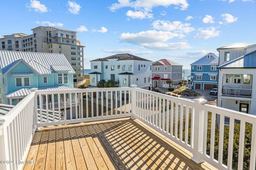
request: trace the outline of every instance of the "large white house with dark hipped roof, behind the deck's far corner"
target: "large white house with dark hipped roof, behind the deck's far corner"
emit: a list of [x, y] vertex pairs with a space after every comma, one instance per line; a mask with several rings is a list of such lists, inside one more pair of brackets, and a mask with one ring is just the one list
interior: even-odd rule
[[100, 80], [114, 80], [118, 87], [149, 87], [151, 61], [131, 54], [116, 54], [91, 61], [90, 86], [97, 87]]

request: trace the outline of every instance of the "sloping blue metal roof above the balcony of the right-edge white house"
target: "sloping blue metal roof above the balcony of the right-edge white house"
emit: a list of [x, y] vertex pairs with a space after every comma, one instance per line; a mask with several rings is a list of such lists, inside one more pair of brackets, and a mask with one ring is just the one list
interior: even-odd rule
[[256, 50], [244, 56], [238, 57], [233, 61], [222, 64], [218, 68], [231, 69], [231, 68], [256, 68]]

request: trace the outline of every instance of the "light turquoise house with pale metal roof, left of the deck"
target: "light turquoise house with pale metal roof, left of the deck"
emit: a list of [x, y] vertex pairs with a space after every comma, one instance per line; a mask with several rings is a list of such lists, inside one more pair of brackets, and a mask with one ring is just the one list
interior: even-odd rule
[[1, 103], [15, 105], [31, 88], [74, 88], [75, 71], [63, 54], [0, 50]]

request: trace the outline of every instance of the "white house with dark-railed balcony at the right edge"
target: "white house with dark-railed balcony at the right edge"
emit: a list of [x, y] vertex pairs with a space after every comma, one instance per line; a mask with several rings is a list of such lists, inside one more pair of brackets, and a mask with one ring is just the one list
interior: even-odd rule
[[218, 106], [256, 115], [256, 45], [234, 44], [217, 50]]

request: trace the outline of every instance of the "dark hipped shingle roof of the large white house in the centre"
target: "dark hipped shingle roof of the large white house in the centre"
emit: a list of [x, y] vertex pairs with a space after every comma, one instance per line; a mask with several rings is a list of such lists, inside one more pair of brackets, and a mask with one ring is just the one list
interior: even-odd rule
[[117, 59], [118, 61], [119, 60], [137, 60], [137, 61], [151, 62], [150, 60], [147, 60], [145, 58], [141, 58], [132, 54], [115, 54], [105, 58], [98, 58], [98, 59], [92, 60], [91, 62], [108, 61], [108, 59]]

